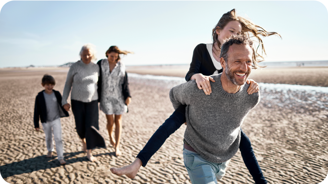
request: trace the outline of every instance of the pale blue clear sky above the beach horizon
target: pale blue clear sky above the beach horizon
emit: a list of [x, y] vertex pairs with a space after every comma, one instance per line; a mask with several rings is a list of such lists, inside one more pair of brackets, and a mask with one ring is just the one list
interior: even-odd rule
[[112, 45], [133, 51], [126, 65], [189, 64], [233, 8], [282, 36], [263, 39], [266, 61], [328, 60], [318, 1], [10, 1], [0, 11], [0, 67], [75, 62], [85, 43], [98, 59]]

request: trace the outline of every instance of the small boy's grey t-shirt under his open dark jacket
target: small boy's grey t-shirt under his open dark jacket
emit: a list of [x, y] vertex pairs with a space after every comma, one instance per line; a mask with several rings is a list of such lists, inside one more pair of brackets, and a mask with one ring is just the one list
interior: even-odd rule
[[59, 106], [55, 93], [52, 92], [51, 95], [49, 95], [46, 92], [43, 92], [43, 96], [47, 107], [47, 121], [53, 121], [60, 118]]

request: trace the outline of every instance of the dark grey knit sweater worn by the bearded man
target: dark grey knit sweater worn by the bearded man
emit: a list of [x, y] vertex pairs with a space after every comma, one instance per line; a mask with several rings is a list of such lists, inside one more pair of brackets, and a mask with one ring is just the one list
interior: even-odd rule
[[231, 159], [239, 148], [240, 125], [260, 101], [259, 92], [248, 95], [249, 84], [235, 94], [222, 88], [221, 74], [212, 76], [211, 95], [199, 90], [195, 80], [175, 86], [170, 91], [174, 109], [187, 104], [187, 128], [184, 138], [207, 161], [221, 163]]

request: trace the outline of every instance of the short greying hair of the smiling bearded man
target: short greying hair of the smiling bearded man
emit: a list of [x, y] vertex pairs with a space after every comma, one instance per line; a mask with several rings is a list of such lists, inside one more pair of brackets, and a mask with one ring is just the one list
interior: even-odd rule
[[252, 56], [252, 65], [254, 65], [255, 63], [255, 52], [253, 49], [253, 41], [251, 39], [248, 38], [248, 36], [245, 35], [231, 35], [229, 38], [223, 40], [223, 44], [221, 46], [221, 55], [220, 58], [223, 57], [223, 59], [225, 60], [225, 62], [228, 62], [228, 57], [229, 57], [229, 46], [232, 44], [243, 44], [243, 45], [249, 45], [252, 48], [253, 51], [253, 56]]

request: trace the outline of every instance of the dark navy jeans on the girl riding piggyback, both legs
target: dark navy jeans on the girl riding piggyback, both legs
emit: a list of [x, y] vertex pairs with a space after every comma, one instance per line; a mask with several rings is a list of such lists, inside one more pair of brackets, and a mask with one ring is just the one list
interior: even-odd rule
[[[176, 130], [178, 130], [184, 122], [186, 122], [186, 105], [180, 105], [174, 113], [156, 130], [145, 147], [137, 155], [137, 158], [142, 161], [142, 166], [146, 166], [147, 162], [164, 144], [165, 140]], [[258, 165], [251, 141], [243, 130], [241, 130], [241, 128], [240, 136], [239, 150], [249, 173], [253, 176], [256, 184], [268, 183], [263, 176], [260, 166]]]

